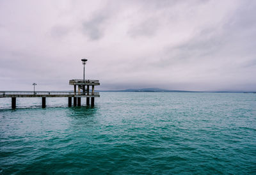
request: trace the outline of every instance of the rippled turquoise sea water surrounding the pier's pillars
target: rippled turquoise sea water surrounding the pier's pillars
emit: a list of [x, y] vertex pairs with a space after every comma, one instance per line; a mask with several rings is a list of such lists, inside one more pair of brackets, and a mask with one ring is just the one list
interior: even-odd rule
[[256, 174], [256, 94], [100, 95], [0, 98], [0, 174]]

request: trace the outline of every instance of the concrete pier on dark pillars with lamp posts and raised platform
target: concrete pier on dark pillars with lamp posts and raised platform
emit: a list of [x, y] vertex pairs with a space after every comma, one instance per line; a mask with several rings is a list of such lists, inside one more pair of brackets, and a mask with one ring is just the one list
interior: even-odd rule
[[[86, 65], [87, 59], [82, 59]], [[0, 98], [12, 98], [12, 109], [17, 106], [16, 98], [42, 98], [42, 108], [46, 107], [46, 98], [67, 97], [68, 107], [81, 106], [81, 98], [86, 98], [86, 105], [94, 106], [95, 97], [100, 97], [99, 92], [95, 92], [95, 86], [99, 86], [99, 80], [72, 79], [69, 85], [74, 86], [74, 91], [35, 91], [36, 83], [33, 83], [34, 91], [0, 91]], [[73, 100], [72, 100], [73, 98]]]

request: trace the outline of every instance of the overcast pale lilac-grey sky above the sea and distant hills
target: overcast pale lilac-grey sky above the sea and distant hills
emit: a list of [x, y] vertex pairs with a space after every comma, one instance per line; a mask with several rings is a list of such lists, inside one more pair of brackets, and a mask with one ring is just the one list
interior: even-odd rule
[[0, 91], [256, 91], [256, 1], [0, 1]]

